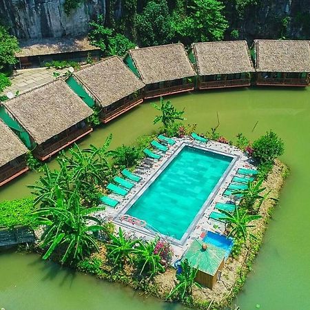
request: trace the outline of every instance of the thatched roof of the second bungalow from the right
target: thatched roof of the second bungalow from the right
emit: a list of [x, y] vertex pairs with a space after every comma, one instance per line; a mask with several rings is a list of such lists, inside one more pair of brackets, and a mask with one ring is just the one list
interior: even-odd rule
[[198, 75], [254, 72], [246, 41], [193, 43]]

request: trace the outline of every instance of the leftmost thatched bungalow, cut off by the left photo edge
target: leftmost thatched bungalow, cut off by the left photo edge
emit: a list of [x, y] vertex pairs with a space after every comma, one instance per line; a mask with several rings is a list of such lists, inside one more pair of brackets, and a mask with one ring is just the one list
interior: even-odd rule
[[0, 119], [0, 186], [28, 170], [25, 156], [27, 147]]

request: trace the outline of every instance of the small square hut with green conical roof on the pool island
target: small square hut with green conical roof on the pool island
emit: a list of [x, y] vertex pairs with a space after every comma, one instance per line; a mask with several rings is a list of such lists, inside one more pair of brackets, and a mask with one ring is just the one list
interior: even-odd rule
[[198, 269], [195, 280], [209, 289], [213, 289], [220, 278], [220, 271], [225, 263], [226, 251], [215, 245], [207, 243], [207, 249], [202, 248], [202, 242], [194, 240], [183, 259], [189, 265]]

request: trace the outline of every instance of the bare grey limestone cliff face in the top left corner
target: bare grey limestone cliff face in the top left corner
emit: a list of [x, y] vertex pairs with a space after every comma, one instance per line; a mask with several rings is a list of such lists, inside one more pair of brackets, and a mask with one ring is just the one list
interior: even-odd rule
[[76, 37], [87, 34], [88, 23], [105, 16], [105, 0], [81, 1], [70, 16], [63, 11], [65, 0], [0, 0], [0, 16], [19, 39]]

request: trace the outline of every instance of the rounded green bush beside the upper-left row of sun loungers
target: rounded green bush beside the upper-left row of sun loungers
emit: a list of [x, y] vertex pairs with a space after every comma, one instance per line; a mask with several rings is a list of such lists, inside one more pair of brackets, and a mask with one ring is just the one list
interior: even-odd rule
[[116, 165], [130, 168], [136, 165], [142, 157], [143, 154], [138, 147], [122, 145], [115, 149], [113, 159]]

